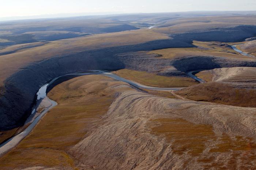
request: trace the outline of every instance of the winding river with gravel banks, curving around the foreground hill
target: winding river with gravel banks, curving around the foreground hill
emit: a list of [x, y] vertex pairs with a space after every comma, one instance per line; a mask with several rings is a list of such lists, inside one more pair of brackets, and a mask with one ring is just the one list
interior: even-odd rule
[[[193, 72], [196, 72], [196, 71], [193, 71]], [[54, 106], [57, 105], [57, 103], [55, 101], [50, 100], [46, 96], [47, 92], [50, 89], [52, 89], [54, 87], [54, 85], [60, 84], [61, 82], [65, 81], [65, 80], [69, 80], [69, 79], [77, 77], [77, 76], [85, 76], [85, 75], [92, 75], [92, 74], [94, 74], [94, 75], [100, 74], [102, 76], [113, 78], [114, 80], [126, 82], [132, 86], [135, 86], [136, 88], [142, 88], [142, 89], [147, 89], [147, 90], [173, 91], [173, 90], [181, 89], [181, 88], [159, 88], [159, 87], [153, 87], [153, 86], [146, 86], [146, 85], [139, 84], [138, 82], [135, 82], [132, 80], [127, 80], [127, 79], [122, 78], [116, 74], [106, 72], [104, 70], [88, 70], [88, 71], [71, 73], [71, 74], [66, 74], [64, 76], [56, 77], [49, 83], [43, 85], [38, 90], [37, 102], [35, 103], [35, 106], [32, 109], [33, 112], [31, 113], [31, 116], [28, 118], [28, 120], [26, 121], [25, 125], [22, 128], [22, 130], [23, 129], [25, 129], [25, 130], [20, 132], [18, 135], [15, 135], [11, 139], [7, 140], [6, 142], [2, 143], [0, 145], [0, 155], [4, 154], [11, 148], [15, 147], [22, 139], [24, 139], [33, 130], [33, 128], [38, 123], [38, 121], [41, 119], [41, 117], [44, 116], [44, 114], [46, 112], [48, 112], [50, 109], [52, 109]], [[192, 76], [192, 78], [196, 78], [196, 76]], [[199, 78], [197, 78], [197, 79], [199, 79]], [[50, 87], [50, 89], [48, 89], [48, 87]], [[44, 107], [44, 105], [45, 105], [44, 103], [50, 103], [50, 105], [48, 105], [47, 107]], [[35, 111], [38, 111], [39, 108], [41, 108], [41, 109], [43, 108], [43, 111], [41, 113], [35, 112]], [[26, 127], [26, 128], [24, 128], [24, 127]]]

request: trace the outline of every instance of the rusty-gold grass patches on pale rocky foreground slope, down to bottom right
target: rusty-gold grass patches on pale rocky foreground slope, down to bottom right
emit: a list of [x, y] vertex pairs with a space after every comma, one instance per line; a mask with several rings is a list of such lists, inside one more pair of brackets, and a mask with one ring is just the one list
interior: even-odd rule
[[[222, 160], [203, 153], [206, 149], [206, 152], [216, 152], [216, 154], [232, 151], [232, 157], [227, 159], [229, 167], [237, 167], [237, 165], [244, 168], [243, 165], [255, 167], [253, 161], [256, 158], [256, 144], [250, 138], [236, 136], [231, 139], [227, 134], [217, 136], [211, 125], [194, 124], [184, 119], [161, 118], [152, 120], [151, 134], [164, 137], [171, 144], [174, 153], [181, 155], [187, 152], [196, 158], [197, 162], [203, 163], [206, 169], [227, 169]], [[208, 151], [209, 147], [210, 151]], [[241, 152], [242, 158], [238, 158]], [[197, 163], [196, 161], [194, 163]], [[188, 161], [184, 161], [184, 168], [187, 163]]]

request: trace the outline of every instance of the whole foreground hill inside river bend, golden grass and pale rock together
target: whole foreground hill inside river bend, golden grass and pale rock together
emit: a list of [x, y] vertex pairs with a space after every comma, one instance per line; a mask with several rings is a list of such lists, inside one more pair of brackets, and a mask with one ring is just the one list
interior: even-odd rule
[[155, 96], [100, 75], [48, 96], [58, 105], [1, 169], [256, 168], [256, 108]]

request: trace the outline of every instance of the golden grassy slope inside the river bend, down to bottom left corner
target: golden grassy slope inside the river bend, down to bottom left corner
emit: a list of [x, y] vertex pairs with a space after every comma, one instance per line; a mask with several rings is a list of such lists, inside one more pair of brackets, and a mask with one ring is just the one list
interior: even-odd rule
[[101, 124], [114, 92], [109, 83], [120, 84], [99, 75], [73, 78], [55, 86], [48, 96], [58, 105], [50, 110], [19, 145], [0, 158], [3, 169], [48, 166], [75, 169], [69, 147]]

